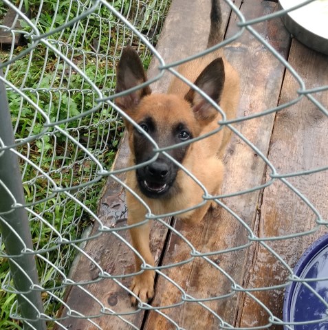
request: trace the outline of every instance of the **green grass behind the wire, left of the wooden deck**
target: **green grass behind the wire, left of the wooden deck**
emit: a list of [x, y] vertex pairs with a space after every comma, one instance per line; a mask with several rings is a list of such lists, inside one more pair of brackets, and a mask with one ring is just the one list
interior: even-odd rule
[[[157, 25], [157, 21], [163, 21], [167, 6], [160, 8], [154, 0], [144, 2], [147, 5], [137, 8], [136, 2], [130, 6], [128, 0], [109, 1], [123, 14], [129, 14], [130, 21], [134, 22], [138, 30], [155, 43], [161, 26], [161, 23]], [[39, 12], [40, 1], [24, 2], [25, 9], [31, 12], [32, 22], [41, 33], [63, 26], [67, 20], [74, 19], [77, 12], [87, 10], [87, 4], [83, 8], [76, 1], [58, 1], [57, 8], [57, 1], [46, 0]], [[3, 9], [0, 1], [0, 19], [4, 14], [6, 8]], [[21, 26], [23, 31], [31, 32], [30, 25], [24, 21], [21, 21]], [[116, 64], [124, 44], [138, 46], [145, 67], [151, 58], [138, 38], [129, 30], [124, 30], [118, 19], [103, 5], [72, 27], [52, 34], [47, 40], [79, 67], [105, 96], [113, 94], [115, 89]], [[27, 39], [27, 44], [17, 47], [12, 56], [21, 54], [30, 45], [31, 40]], [[0, 56], [1, 61], [6, 62], [10, 53], [0, 50]], [[6, 67], [4, 71], [6, 79], [29, 98], [25, 100], [17, 91], [8, 88], [17, 142], [45, 129], [45, 119], [36, 111], [33, 102], [47, 114], [51, 122], [83, 114], [94, 109], [97, 104], [98, 96], [94, 88], [43, 43], [12, 63], [8, 72]], [[102, 166], [107, 169], [111, 167], [124, 127], [109, 104], [101, 104], [93, 113], [58, 126], [87, 148]], [[72, 197], [96, 212], [106, 178], [84, 188], [74, 188], [94, 179], [99, 168], [82, 148], [54, 127], [47, 129], [42, 137], [19, 146], [17, 150], [21, 154], [19, 162], [23, 173], [25, 201], [27, 204], [32, 203], [28, 209], [34, 250], [40, 251], [67, 275], [76, 251], [72, 245], [58, 245], [58, 236], [52, 227], [61, 233], [62, 239], [79, 239], [94, 219]], [[37, 168], [26, 159], [36, 164]], [[65, 192], [52, 194], [52, 182], [63, 188], [72, 188], [70, 195]], [[3, 251], [6, 248], [2, 245]], [[41, 285], [63, 298], [63, 289], [54, 289], [61, 285], [61, 274], [41, 258], [36, 258], [36, 266]], [[0, 281], [4, 286], [12, 285], [6, 278], [8, 272], [8, 260], [0, 258]], [[47, 315], [56, 316], [60, 307], [58, 301], [47, 292], [42, 294], [42, 298]], [[0, 289], [0, 329], [21, 329], [21, 323], [10, 318], [10, 309], [15, 300], [14, 294]], [[52, 323], [48, 327], [51, 329]]]

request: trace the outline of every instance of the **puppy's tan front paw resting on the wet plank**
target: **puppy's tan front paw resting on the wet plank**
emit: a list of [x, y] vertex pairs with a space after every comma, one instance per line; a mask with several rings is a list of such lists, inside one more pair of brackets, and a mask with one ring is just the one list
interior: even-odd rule
[[[154, 297], [154, 277], [153, 270], [146, 270], [133, 278], [130, 289], [143, 303], [148, 303]], [[131, 305], [138, 305], [138, 299], [134, 296], [131, 296]]]

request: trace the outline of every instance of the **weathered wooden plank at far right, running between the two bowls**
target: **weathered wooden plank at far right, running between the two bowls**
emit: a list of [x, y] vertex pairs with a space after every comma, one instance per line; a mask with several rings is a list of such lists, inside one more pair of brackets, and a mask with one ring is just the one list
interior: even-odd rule
[[[305, 81], [307, 88], [328, 85], [328, 57], [309, 50], [295, 39], [289, 54], [289, 63]], [[296, 96], [299, 85], [287, 72], [283, 82], [280, 103], [283, 104]], [[314, 94], [317, 100], [328, 108], [327, 91]], [[296, 105], [276, 115], [269, 159], [278, 173], [295, 173], [327, 166], [328, 159], [328, 118], [306, 98]], [[268, 173], [269, 174], [269, 173]], [[268, 179], [268, 177], [267, 177]], [[328, 218], [328, 173], [316, 173], [291, 177], [287, 181], [293, 184], [305, 197], [314, 204], [323, 219]], [[275, 181], [265, 188], [263, 203], [259, 214], [257, 232], [260, 237], [274, 237], [306, 232], [316, 226], [316, 217], [306, 204], [300, 200], [281, 181]], [[327, 228], [321, 228], [315, 234], [300, 236], [295, 239], [268, 241], [283, 260], [294, 267], [300, 255], [312, 241], [318, 238]], [[245, 287], [267, 287], [286, 283], [288, 272], [285, 267], [260, 245], [256, 245], [250, 255], [248, 278]], [[283, 289], [255, 292], [272, 314], [282, 318]], [[246, 298], [243, 303], [241, 327], [258, 327], [268, 323], [266, 311], [254, 300]], [[272, 327], [270, 329], [281, 329]]]

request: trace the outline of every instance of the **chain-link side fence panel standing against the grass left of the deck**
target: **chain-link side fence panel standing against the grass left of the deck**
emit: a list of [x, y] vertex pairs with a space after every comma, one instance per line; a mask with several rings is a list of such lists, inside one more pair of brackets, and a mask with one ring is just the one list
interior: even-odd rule
[[[20, 234], [30, 231], [32, 245], [23, 236], [12, 255], [35, 256], [39, 285], [34, 281], [33, 291], [42, 295], [43, 320], [56, 318], [81, 234], [98, 219], [104, 175], [123, 131], [118, 113], [99, 100], [114, 94], [116, 63], [124, 45], [135, 46], [145, 65], [149, 63], [151, 52], [138, 34], [146, 43], [156, 43], [168, 1], [21, 1], [17, 7], [1, 1], [0, 8], [3, 17], [13, 12], [12, 21], [0, 25], [9, 38], [1, 50], [1, 85], [6, 87], [15, 136], [14, 143], [8, 142], [1, 129], [1, 147], [14, 146], [10, 150], [19, 158], [24, 190], [24, 199], [17, 199], [1, 177], [1, 196], [10, 197], [1, 208], [0, 328], [26, 324], [34, 329], [33, 322], [23, 321], [26, 315], [16, 298], [29, 291], [30, 274], [17, 261], [27, 287], [13, 287], [8, 259], [14, 259], [8, 245], [17, 242], [6, 238], [4, 232], [11, 227], [3, 214], [25, 206], [28, 223]], [[129, 20], [134, 30], [116, 15]], [[5, 157], [2, 151], [1, 159]], [[6, 179], [13, 173], [2, 174]], [[43, 329], [41, 323], [36, 329]]]

